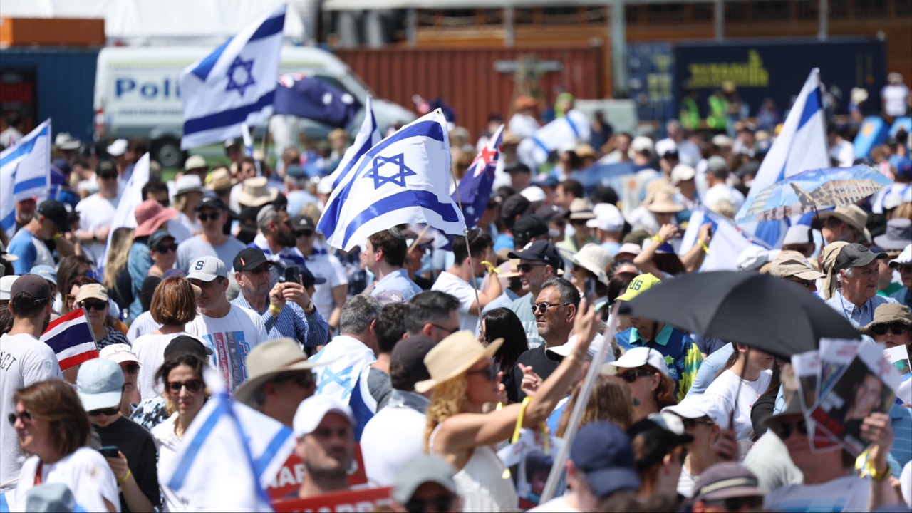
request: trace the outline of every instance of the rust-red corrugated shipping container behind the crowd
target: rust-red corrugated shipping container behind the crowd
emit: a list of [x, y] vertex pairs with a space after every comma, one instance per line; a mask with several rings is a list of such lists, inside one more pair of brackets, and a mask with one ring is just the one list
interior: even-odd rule
[[543, 108], [562, 91], [581, 99], [605, 95], [603, 47], [358, 48], [336, 55], [380, 98], [406, 107], [414, 106], [414, 95], [443, 99], [472, 142], [490, 115], [509, 120], [520, 94], [541, 99]]

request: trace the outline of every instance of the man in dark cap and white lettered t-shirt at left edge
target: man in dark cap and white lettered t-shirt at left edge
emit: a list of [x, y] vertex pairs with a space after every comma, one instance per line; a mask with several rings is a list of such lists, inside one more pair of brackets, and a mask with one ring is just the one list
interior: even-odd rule
[[[57, 355], [46, 343], [38, 340], [47, 329], [51, 315], [51, 288], [38, 275], [16, 278], [9, 292], [9, 311], [13, 314], [13, 329], [0, 336], [0, 414], [5, 419], [15, 413], [10, 400], [13, 391], [36, 382], [62, 379]], [[16, 478], [25, 457], [19, 453], [13, 425], [0, 423], [0, 493], [16, 487]]]

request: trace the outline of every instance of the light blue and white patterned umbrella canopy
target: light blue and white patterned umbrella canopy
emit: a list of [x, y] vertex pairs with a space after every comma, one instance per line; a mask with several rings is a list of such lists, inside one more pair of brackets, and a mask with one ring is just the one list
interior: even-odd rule
[[848, 206], [893, 183], [867, 165], [813, 169], [773, 183], [748, 198], [737, 223], [788, 219], [815, 210]]

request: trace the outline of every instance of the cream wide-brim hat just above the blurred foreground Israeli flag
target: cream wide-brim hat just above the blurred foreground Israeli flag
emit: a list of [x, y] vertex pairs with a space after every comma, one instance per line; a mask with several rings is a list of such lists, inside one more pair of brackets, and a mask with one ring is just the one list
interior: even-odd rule
[[247, 355], [250, 378], [234, 391], [234, 399], [252, 408], [257, 407], [254, 392], [265, 382], [285, 372], [307, 371], [326, 365], [329, 361], [309, 361], [295, 340], [266, 340]]

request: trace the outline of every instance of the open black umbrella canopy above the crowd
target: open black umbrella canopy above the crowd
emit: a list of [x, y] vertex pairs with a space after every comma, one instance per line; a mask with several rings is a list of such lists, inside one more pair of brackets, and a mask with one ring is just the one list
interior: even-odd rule
[[780, 278], [746, 271], [668, 279], [631, 299], [620, 311], [741, 342], [782, 358], [814, 351], [824, 337], [858, 338], [848, 320], [810, 292]]

